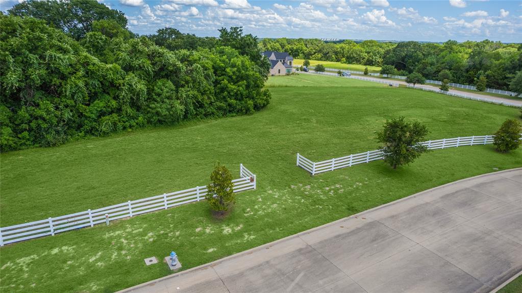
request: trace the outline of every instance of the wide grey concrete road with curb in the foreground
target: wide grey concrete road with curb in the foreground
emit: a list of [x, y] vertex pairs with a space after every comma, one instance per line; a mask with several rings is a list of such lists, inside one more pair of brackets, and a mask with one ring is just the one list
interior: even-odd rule
[[121, 292], [489, 292], [522, 271], [522, 168], [482, 175]]

